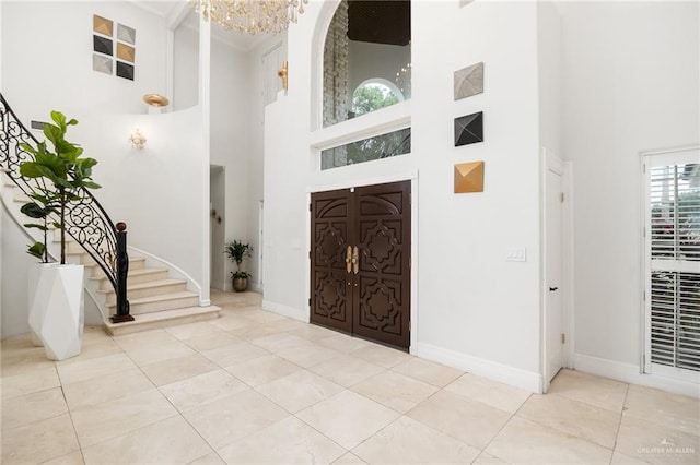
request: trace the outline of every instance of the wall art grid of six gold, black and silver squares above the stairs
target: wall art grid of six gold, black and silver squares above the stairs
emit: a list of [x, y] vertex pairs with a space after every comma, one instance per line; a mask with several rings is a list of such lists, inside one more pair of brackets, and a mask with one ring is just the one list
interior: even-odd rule
[[93, 14], [92, 31], [92, 69], [133, 81], [136, 29]]

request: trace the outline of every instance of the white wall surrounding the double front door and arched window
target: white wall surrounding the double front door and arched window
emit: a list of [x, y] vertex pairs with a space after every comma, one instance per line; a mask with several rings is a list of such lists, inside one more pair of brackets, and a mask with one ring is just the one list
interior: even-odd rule
[[[307, 121], [319, 107], [323, 37], [332, 2], [312, 2], [289, 32], [290, 90], [268, 106], [265, 136], [268, 308], [308, 318], [307, 191], [418, 170], [418, 299], [411, 350], [533, 391], [539, 389], [539, 164], [535, 4], [412, 2], [412, 154], [324, 172]], [[508, 32], [508, 34], [504, 34]], [[310, 50], [308, 44], [312, 44]], [[320, 46], [319, 46], [320, 44]], [[445, 47], [450, 44], [450, 47]], [[436, 53], [435, 50], [441, 50]], [[486, 92], [453, 100], [453, 73], [486, 62]], [[291, 69], [291, 68], [290, 68]], [[310, 85], [310, 82], [312, 83]], [[454, 147], [453, 119], [485, 111], [486, 142]], [[377, 116], [383, 115], [383, 116]], [[314, 126], [312, 126], [312, 131]], [[334, 129], [328, 129], [332, 131]], [[322, 130], [319, 132], [323, 133]], [[486, 191], [453, 193], [455, 163], [486, 160]], [[505, 262], [510, 248], [525, 263]], [[513, 349], [517, 347], [517, 349]]]

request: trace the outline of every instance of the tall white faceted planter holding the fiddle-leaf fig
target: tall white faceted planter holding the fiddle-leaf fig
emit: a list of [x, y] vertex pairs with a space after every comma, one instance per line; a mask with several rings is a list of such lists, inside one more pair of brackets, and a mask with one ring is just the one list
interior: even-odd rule
[[[63, 360], [80, 354], [83, 338], [83, 265], [51, 263], [37, 266], [30, 297], [30, 326], [44, 343], [46, 357]], [[31, 290], [30, 290], [31, 291]]]

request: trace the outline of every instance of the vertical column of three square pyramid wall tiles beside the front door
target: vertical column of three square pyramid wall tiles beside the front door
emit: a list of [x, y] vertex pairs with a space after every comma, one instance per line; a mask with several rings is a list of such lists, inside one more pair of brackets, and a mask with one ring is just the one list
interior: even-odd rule
[[[483, 63], [455, 71], [455, 102], [483, 93]], [[483, 111], [455, 118], [455, 147], [483, 142]], [[483, 162], [454, 166], [454, 192], [483, 192]]]

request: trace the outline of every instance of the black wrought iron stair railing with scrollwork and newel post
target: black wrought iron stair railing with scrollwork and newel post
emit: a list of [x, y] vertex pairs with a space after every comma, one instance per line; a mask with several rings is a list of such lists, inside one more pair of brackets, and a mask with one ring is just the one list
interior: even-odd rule
[[[26, 195], [39, 191], [45, 180], [28, 179], [20, 174], [20, 165], [34, 156], [21, 146], [25, 143], [36, 146], [38, 141], [19, 120], [12, 108], [0, 94], [0, 166], [4, 172]], [[70, 202], [65, 218], [66, 233], [75, 240], [97, 263], [114, 287], [117, 298], [117, 313], [110, 319], [115, 323], [132, 321], [127, 299], [127, 277], [129, 257], [127, 254], [125, 223], [116, 225], [107, 212], [85, 189], [80, 190], [77, 200]]]

